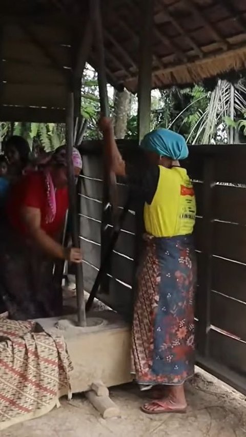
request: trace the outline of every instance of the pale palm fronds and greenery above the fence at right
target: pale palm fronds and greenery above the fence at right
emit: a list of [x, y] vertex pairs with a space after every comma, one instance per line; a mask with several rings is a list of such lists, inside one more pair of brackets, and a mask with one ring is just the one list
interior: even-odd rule
[[[200, 89], [199, 87], [197, 88]], [[196, 94], [197, 94], [196, 89]], [[206, 108], [197, 104], [206, 101]], [[195, 111], [193, 108], [195, 107]], [[188, 112], [188, 113], [187, 113]], [[172, 128], [178, 120], [180, 126], [189, 125], [187, 142], [192, 144], [239, 142], [242, 128], [246, 133], [246, 88], [243, 80], [231, 84], [219, 79], [214, 91], [201, 93], [169, 123]], [[242, 135], [241, 135], [242, 136]], [[244, 139], [245, 141], [245, 139]], [[246, 142], [246, 141], [245, 141]]]

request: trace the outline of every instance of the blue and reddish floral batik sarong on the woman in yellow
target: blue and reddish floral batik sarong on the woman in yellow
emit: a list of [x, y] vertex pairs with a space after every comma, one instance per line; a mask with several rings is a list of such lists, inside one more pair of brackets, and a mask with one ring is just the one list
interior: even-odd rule
[[133, 321], [140, 385], [178, 385], [193, 375], [195, 283], [191, 236], [148, 238]]

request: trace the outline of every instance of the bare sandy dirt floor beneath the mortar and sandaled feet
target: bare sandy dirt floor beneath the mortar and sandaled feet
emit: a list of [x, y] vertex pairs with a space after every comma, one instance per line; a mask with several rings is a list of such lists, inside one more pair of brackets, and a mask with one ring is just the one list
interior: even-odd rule
[[46, 416], [1, 431], [1, 437], [246, 437], [245, 398], [207, 373], [197, 370], [187, 384], [187, 414], [149, 416], [134, 384], [110, 390], [120, 419], [101, 419], [83, 395]]

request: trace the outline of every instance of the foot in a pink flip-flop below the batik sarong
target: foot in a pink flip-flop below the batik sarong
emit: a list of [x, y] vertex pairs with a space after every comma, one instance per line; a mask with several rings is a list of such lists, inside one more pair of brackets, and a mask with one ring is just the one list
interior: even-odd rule
[[144, 404], [141, 410], [147, 414], [163, 414], [163, 413], [186, 413], [187, 404], [177, 403], [172, 398], [162, 399], [161, 401], [153, 401], [149, 404]]

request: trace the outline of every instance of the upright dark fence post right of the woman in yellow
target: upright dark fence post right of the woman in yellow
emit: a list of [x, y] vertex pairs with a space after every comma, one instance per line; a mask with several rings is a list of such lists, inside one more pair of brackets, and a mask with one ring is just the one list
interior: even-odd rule
[[200, 355], [209, 353], [210, 301], [212, 283], [212, 242], [213, 242], [213, 205], [214, 159], [206, 156], [203, 167], [202, 191], [202, 253], [200, 283], [197, 297], [198, 326], [197, 342]]

